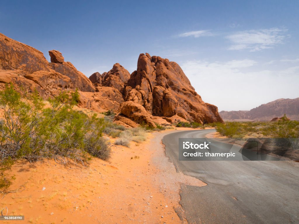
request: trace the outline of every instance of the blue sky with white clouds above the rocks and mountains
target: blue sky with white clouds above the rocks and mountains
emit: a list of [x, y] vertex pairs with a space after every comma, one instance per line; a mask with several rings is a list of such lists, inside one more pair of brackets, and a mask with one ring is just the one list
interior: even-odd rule
[[298, 11], [297, 0], [1, 1], [0, 32], [86, 76], [168, 58], [219, 111], [249, 110], [299, 97]]

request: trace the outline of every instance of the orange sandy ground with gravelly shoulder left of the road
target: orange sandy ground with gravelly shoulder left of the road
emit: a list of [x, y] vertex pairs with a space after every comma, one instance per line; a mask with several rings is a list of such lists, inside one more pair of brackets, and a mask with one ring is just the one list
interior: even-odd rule
[[18, 162], [10, 171], [16, 176], [10, 190], [19, 192], [1, 196], [3, 214], [39, 224], [186, 223], [181, 184], [206, 184], [177, 173], [165, 156], [161, 138], [172, 131], [150, 133], [147, 142], [131, 142], [131, 148], [112, 144], [109, 162], [95, 158], [88, 167]]

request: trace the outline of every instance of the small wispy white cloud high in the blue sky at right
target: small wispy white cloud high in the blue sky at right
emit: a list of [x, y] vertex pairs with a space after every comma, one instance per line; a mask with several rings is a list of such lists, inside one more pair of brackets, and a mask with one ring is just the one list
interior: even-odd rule
[[229, 50], [259, 51], [267, 48], [273, 48], [275, 45], [282, 44], [288, 37], [286, 29], [271, 28], [261, 30], [240, 31], [225, 38], [232, 42]]

